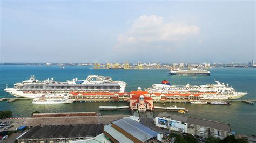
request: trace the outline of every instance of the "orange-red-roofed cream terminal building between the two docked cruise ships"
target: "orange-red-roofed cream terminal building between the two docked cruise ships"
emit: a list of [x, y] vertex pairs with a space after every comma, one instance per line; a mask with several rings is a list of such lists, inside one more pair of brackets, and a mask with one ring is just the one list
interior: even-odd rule
[[146, 91], [132, 91], [130, 93], [130, 109], [145, 112], [146, 110], [153, 110], [153, 98], [151, 98]]

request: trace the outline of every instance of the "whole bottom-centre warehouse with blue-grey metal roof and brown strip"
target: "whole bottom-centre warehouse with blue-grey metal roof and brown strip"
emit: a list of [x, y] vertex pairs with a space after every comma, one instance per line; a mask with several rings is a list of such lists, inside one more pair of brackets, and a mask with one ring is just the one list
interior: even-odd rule
[[103, 133], [111, 142], [157, 142], [158, 135], [156, 131], [131, 118], [104, 125]]

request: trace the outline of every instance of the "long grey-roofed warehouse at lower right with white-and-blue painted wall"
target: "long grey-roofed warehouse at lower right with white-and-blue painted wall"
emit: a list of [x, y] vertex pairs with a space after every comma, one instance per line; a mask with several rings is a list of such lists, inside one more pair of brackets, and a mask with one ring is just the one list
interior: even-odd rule
[[206, 138], [217, 137], [223, 139], [228, 135], [231, 135], [231, 128], [229, 124], [211, 120], [171, 115], [169, 113], [160, 113], [155, 118], [155, 124], [158, 127], [199, 135], [200, 137]]

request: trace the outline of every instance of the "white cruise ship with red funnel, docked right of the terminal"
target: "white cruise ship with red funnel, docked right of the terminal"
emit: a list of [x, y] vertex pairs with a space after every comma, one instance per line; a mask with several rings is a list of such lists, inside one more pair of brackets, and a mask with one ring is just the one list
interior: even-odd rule
[[239, 99], [246, 95], [245, 92], [237, 92], [228, 84], [216, 81], [216, 84], [207, 85], [171, 85], [168, 81], [163, 80], [161, 84], [154, 84], [152, 87], [145, 89], [149, 93], [199, 93], [203, 94], [203, 99]]

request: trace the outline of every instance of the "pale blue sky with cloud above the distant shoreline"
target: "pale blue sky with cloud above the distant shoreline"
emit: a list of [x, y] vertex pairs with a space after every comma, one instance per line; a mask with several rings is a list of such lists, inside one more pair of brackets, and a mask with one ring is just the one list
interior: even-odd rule
[[255, 1], [0, 2], [0, 62], [256, 60]]

